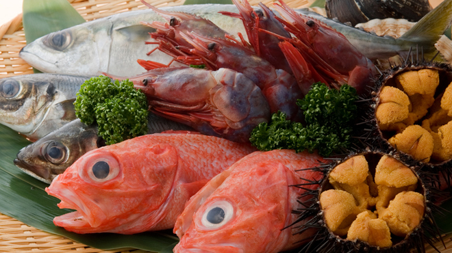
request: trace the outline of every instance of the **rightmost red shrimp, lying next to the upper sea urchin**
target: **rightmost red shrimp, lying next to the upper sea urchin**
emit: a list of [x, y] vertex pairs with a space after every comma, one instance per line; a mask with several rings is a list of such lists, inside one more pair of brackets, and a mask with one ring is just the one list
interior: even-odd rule
[[[375, 66], [345, 36], [321, 21], [295, 12], [281, 0], [279, 4], [275, 3], [275, 8], [284, 19], [276, 18], [284, 24], [288, 32], [296, 37], [278, 36], [290, 42], [281, 43], [280, 46], [294, 75], [310, 72], [312, 76], [321, 75], [330, 80], [333, 79], [340, 85], [348, 83], [356, 88], [358, 94], [371, 85], [376, 71]], [[305, 68], [303, 64], [296, 64], [300, 61], [298, 57], [302, 57], [303, 61], [311, 64], [318, 74], [312, 73], [312, 69]], [[303, 78], [296, 78], [297, 81], [303, 81]], [[329, 83], [331, 84], [331, 81]], [[300, 86], [307, 84], [309, 83], [299, 82]], [[301, 90], [305, 88], [301, 87]]]

